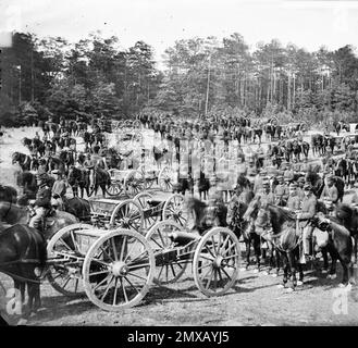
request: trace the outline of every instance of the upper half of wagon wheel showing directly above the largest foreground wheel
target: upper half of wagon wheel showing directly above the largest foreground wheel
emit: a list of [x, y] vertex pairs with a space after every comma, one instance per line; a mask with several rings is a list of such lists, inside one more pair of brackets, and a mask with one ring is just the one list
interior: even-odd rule
[[119, 203], [111, 215], [110, 226], [113, 228], [126, 228], [141, 232], [144, 224], [143, 210], [138, 202], [126, 199]]

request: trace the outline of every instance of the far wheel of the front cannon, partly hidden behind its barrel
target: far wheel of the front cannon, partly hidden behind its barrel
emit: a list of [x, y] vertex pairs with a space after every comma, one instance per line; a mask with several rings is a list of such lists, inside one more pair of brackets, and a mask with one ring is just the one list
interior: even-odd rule
[[153, 282], [159, 285], [175, 283], [192, 262], [194, 244], [177, 249], [170, 234], [183, 231], [183, 226], [174, 221], [161, 221], [150, 228], [146, 239], [150, 244], [156, 258]]

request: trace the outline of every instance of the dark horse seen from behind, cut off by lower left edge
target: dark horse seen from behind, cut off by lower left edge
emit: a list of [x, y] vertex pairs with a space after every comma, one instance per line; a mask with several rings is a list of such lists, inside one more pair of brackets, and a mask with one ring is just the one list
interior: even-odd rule
[[0, 233], [0, 272], [13, 278], [22, 304], [27, 285], [28, 314], [41, 306], [40, 283], [35, 269], [42, 271], [46, 260], [46, 241], [37, 229], [16, 224]]

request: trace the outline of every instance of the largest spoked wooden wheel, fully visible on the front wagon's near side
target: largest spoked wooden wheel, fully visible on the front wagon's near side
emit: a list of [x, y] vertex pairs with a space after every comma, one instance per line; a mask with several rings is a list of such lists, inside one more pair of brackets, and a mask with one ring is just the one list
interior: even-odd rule
[[88, 250], [83, 283], [88, 298], [107, 311], [121, 311], [140, 302], [155, 274], [155, 254], [146, 238], [115, 229], [98, 238]]

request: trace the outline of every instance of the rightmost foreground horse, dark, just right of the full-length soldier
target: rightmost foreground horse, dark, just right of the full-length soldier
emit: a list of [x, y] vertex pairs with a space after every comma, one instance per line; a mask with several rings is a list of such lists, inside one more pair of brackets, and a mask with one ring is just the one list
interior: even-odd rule
[[[351, 265], [351, 253], [353, 253], [353, 241], [349, 231], [340, 221], [333, 216], [325, 217], [324, 214], [319, 213], [316, 219], [312, 220], [311, 224], [323, 232], [321, 236], [317, 236], [319, 240], [319, 247], [322, 250], [323, 256], [323, 270], [328, 269], [328, 253], [331, 256], [331, 270], [329, 277], [336, 277], [336, 261], [340, 260], [343, 276], [342, 285], [346, 286], [349, 282], [349, 265]], [[313, 232], [314, 236], [314, 232]]]

